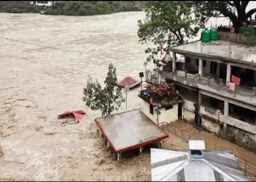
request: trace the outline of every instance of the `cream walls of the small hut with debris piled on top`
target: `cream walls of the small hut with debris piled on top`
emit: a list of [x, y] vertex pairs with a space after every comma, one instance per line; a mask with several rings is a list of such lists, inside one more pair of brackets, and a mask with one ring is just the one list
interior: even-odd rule
[[[157, 124], [157, 114], [152, 115], [149, 109], [149, 103], [146, 101], [143, 102], [143, 113], [148, 116], [153, 122]], [[165, 108], [159, 109], [161, 114], [159, 115], [159, 124], [162, 122], [167, 122], [170, 124], [171, 122], [175, 122], [178, 119], [178, 104], [174, 105], [173, 108], [168, 109], [167, 111]]]

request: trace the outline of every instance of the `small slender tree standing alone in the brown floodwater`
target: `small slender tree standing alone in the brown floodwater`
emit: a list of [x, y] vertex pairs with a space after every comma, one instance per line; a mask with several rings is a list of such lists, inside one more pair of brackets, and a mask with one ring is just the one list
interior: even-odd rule
[[112, 111], [118, 110], [124, 102], [122, 88], [117, 84], [116, 68], [113, 64], [108, 67], [108, 74], [105, 78], [105, 87], [99, 82], [93, 81], [89, 76], [86, 87], [83, 88], [83, 101], [91, 110], [102, 111], [102, 116], [108, 116]]

